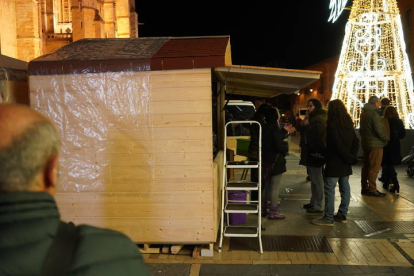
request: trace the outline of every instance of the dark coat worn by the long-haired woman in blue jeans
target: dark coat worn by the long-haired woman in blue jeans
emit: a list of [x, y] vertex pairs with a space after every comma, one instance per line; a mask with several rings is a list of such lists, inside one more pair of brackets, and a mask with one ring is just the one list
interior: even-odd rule
[[325, 177], [351, 175], [351, 165], [356, 164], [359, 150], [352, 123], [344, 129], [328, 124], [326, 132]]

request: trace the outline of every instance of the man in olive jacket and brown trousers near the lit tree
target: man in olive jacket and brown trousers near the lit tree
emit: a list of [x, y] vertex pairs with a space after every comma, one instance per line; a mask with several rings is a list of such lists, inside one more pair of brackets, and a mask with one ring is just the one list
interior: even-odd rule
[[384, 124], [378, 114], [381, 103], [377, 96], [371, 96], [363, 107], [360, 122], [361, 145], [364, 150], [364, 164], [361, 170], [361, 194], [384, 197], [377, 190], [376, 179], [381, 167], [383, 148], [388, 139]]

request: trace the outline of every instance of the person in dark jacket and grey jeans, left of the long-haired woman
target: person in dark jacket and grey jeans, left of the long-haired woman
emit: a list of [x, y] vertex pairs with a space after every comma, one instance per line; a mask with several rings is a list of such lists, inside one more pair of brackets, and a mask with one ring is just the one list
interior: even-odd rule
[[311, 181], [312, 197], [310, 203], [303, 205], [307, 213], [323, 212], [323, 165], [316, 164], [308, 160], [309, 151], [318, 151], [325, 148], [326, 141], [326, 110], [322, 108], [322, 103], [318, 99], [308, 101], [309, 120], [302, 122], [301, 128], [301, 155], [300, 163], [306, 166]]

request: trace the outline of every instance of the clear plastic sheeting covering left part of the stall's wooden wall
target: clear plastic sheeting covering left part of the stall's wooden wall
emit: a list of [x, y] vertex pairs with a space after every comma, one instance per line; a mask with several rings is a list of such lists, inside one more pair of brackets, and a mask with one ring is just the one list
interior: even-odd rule
[[[152, 178], [149, 75], [127, 71], [30, 77], [32, 107], [52, 119], [62, 137], [58, 191], [122, 191], [131, 175]], [[130, 171], [128, 165], [140, 169]]]

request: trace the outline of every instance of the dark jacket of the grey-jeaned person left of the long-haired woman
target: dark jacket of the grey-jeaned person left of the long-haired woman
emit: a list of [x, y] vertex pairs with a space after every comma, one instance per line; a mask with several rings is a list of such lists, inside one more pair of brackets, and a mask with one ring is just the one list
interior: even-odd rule
[[309, 149], [319, 150], [325, 148], [326, 142], [326, 110], [322, 108], [315, 108], [309, 114], [309, 124], [301, 128], [300, 139], [300, 165], [314, 167], [307, 160]]

